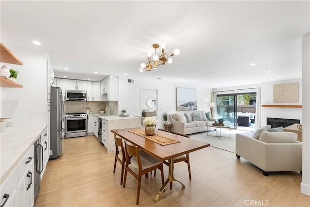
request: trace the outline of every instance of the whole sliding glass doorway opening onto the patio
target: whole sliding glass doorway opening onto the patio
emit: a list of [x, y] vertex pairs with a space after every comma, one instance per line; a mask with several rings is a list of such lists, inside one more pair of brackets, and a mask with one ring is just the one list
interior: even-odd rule
[[217, 95], [217, 118], [232, 128], [253, 131], [255, 112], [256, 92]]

